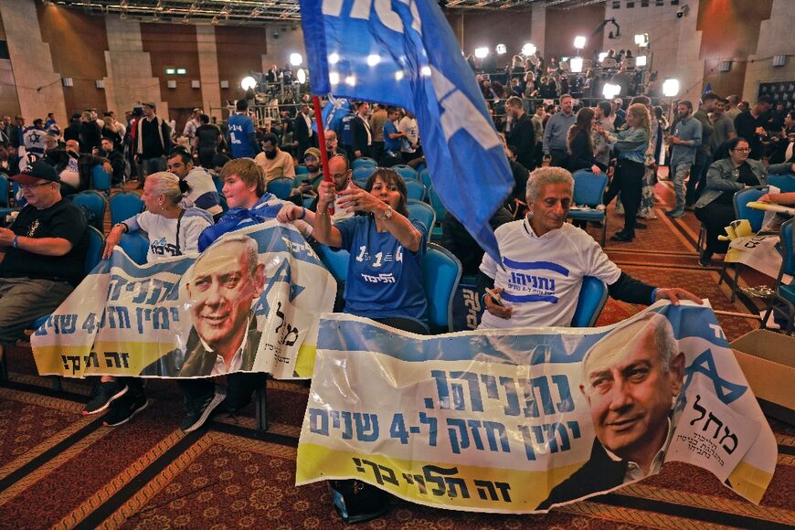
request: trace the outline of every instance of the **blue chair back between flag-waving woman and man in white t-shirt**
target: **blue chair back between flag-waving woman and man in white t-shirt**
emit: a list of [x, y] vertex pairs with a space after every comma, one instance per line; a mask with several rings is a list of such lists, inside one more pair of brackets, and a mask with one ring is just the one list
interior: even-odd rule
[[422, 258], [422, 286], [428, 298], [431, 334], [452, 331], [452, 300], [461, 280], [461, 261], [440, 245], [430, 243]]

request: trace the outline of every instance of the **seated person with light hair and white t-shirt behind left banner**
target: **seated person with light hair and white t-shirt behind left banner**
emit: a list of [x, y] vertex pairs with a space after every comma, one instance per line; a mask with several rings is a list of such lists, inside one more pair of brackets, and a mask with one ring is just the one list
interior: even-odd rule
[[[111, 252], [122, 240], [122, 234], [138, 230], [144, 230], [149, 236], [148, 263], [183, 254], [196, 254], [199, 234], [213, 224], [213, 217], [201, 208], [180, 207], [182, 195], [186, 191], [185, 181], [171, 173], [159, 172], [147, 176], [141, 196], [146, 211], [111, 228], [111, 233], [105, 239], [102, 258], [110, 258]], [[96, 414], [110, 407], [102, 423], [107, 427], [115, 427], [126, 423], [147, 404], [141, 379], [101, 376], [96, 396], [83, 409], [83, 414]]]

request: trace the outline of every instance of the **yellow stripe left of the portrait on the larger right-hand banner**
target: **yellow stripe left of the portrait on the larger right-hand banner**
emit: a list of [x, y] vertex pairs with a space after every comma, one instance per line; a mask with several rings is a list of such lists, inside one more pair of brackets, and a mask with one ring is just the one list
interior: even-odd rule
[[[523, 472], [402, 461], [299, 443], [295, 483], [353, 477], [413, 503], [473, 512], [527, 513], [534, 511], [555, 485], [566, 480], [583, 463], [543, 472]], [[434, 468], [427, 476], [423, 470], [425, 466]]]

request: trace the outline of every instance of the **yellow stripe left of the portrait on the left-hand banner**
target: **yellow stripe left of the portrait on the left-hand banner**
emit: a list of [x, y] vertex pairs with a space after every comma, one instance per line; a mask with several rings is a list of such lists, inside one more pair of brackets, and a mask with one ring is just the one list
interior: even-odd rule
[[[34, 355], [38, 372], [43, 376], [137, 376], [145, 366], [174, 350], [176, 346], [164, 343], [97, 342], [91, 350], [97, 354], [96, 357], [87, 355], [85, 346], [44, 346], [36, 348]], [[79, 359], [68, 359], [65, 362], [62, 355], [78, 356]], [[75, 365], [75, 362], [79, 364]]]

